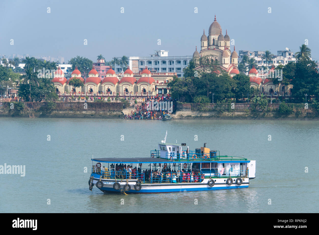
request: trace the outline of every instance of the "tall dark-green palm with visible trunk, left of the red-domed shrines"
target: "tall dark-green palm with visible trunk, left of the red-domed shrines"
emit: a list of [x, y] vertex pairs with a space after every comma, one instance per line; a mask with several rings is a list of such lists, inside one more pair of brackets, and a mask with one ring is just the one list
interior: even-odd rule
[[26, 74], [21, 77], [22, 82], [24, 84], [29, 83], [29, 94], [28, 94], [28, 101], [31, 101], [31, 84], [39, 87], [39, 81], [37, 76], [37, 68], [39, 67], [38, 60], [34, 57], [26, 57], [25, 59], [26, 65], [25, 65], [25, 72]]

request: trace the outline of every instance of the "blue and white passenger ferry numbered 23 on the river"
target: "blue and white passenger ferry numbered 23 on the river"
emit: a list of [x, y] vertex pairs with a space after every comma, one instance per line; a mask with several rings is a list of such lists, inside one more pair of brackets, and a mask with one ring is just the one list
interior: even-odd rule
[[103, 193], [125, 194], [235, 189], [248, 188], [249, 180], [255, 178], [256, 161], [221, 156], [206, 148], [206, 143], [191, 151], [185, 143], [166, 143], [166, 137], [167, 132], [150, 157], [92, 157], [96, 164], [89, 189], [96, 186]]

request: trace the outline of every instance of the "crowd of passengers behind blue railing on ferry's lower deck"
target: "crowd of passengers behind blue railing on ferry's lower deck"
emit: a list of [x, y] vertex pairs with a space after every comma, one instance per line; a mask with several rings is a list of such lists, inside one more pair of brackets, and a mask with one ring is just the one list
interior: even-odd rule
[[[104, 171], [104, 166], [102, 168], [102, 173]], [[170, 167], [163, 167], [163, 169], [152, 170], [143, 170], [140, 168], [132, 167], [126, 164], [116, 164], [115, 171], [114, 165], [111, 164], [108, 169], [108, 174], [112, 178], [118, 179], [140, 179], [141, 182], [152, 180], [152, 184], [158, 183], [193, 183], [193, 182], [202, 182], [205, 178], [204, 174], [201, 174], [200, 171], [190, 171], [186, 169], [174, 170], [172, 171]]]

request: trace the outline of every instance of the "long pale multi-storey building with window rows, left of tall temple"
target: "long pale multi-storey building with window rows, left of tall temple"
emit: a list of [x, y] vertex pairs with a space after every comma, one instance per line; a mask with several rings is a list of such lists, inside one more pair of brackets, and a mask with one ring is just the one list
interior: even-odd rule
[[156, 50], [147, 57], [129, 57], [130, 68], [134, 73], [145, 69], [145, 66], [156, 72], [176, 72], [177, 77], [183, 77], [183, 69], [189, 64], [192, 56], [168, 56], [166, 50]]

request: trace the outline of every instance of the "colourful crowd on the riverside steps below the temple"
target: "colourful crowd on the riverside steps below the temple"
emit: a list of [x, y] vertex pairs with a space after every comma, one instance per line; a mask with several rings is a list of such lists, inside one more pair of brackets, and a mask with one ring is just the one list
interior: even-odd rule
[[[164, 114], [168, 114], [168, 110], [159, 110], [158, 112], [160, 115], [158, 115], [158, 112], [156, 110], [151, 110], [151, 103], [157, 101], [167, 101], [171, 102], [173, 99], [171, 97], [166, 96], [148, 96], [140, 98], [139, 101], [141, 101], [141, 105], [135, 105], [134, 111], [131, 110], [131, 113], [125, 114], [124, 119], [139, 119], [139, 120], [161, 120]], [[172, 110], [174, 110], [174, 105], [171, 107]]]

